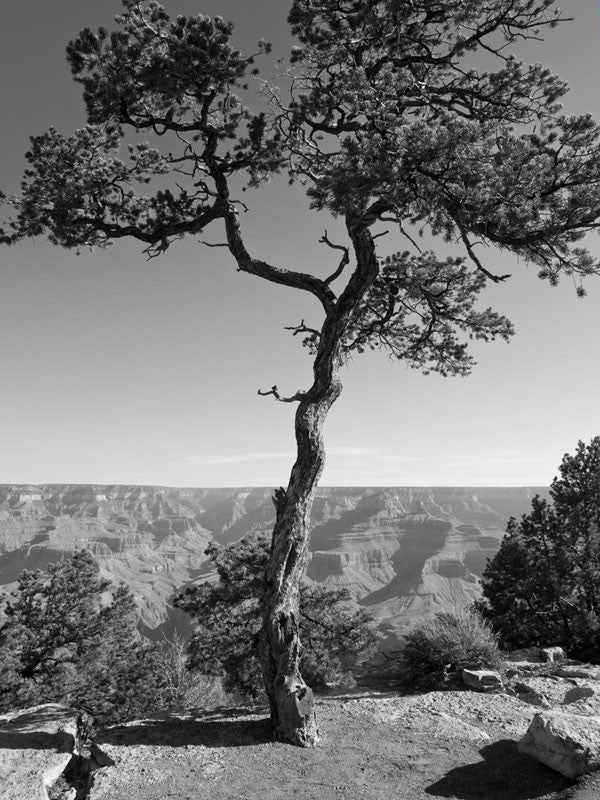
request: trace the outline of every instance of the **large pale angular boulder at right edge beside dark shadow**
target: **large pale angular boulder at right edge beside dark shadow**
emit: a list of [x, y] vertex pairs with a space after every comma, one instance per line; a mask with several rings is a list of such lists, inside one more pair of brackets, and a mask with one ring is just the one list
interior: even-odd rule
[[593, 772], [600, 768], [600, 716], [537, 713], [518, 748], [567, 778]]

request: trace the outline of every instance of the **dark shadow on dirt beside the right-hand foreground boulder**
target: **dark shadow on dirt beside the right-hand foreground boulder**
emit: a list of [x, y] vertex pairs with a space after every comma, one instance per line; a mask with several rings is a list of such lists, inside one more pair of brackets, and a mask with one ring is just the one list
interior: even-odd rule
[[575, 785], [535, 758], [520, 753], [516, 742], [502, 739], [479, 751], [483, 761], [456, 767], [425, 791], [458, 800], [535, 800]]

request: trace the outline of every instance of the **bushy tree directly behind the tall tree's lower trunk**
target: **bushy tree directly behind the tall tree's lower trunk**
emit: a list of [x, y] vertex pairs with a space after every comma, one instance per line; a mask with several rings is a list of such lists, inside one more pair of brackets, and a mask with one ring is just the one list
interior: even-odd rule
[[[223, 676], [227, 691], [250, 698], [262, 694], [261, 600], [269, 547], [264, 536], [246, 537], [229, 547], [210, 544], [206, 555], [216, 567], [218, 582], [189, 587], [175, 600], [198, 625], [188, 666]], [[373, 618], [363, 609], [354, 610], [348, 600], [344, 589], [307, 582], [300, 586], [300, 669], [317, 688], [347, 679], [373, 655], [380, 639]]]

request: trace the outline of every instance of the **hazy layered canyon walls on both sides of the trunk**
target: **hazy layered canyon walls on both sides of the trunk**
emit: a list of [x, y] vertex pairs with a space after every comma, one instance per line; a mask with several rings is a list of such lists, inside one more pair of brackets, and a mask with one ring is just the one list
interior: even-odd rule
[[[308, 577], [345, 587], [393, 644], [416, 617], [466, 605], [506, 521], [535, 488], [323, 488], [313, 509]], [[134, 592], [145, 629], [181, 622], [169, 598], [210, 578], [204, 550], [270, 531], [269, 489], [0, 486], [0, 586], [87, 547]]]

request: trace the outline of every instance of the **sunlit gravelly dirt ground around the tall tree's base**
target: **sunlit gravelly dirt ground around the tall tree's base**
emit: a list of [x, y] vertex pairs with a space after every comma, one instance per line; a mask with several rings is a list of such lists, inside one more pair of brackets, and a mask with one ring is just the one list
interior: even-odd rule
[[[540, 688], [558, 700], [568, 685]], [[312, 749], [269, 741], [260, 709], [164, 716], [100, 735], [114, 763], [90, 800], [598, 800], [595, 776], [518, 752], [537, 710], [506, 694], [356, 690], [319, 699]]]

